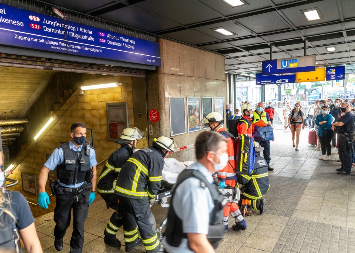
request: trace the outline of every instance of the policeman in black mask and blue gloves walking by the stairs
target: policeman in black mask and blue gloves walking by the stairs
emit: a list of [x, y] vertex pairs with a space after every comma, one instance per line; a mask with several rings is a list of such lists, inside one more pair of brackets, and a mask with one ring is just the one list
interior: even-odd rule
[[51, 181], [49, 184], [53, 195], [56, 196], [54, 246], [57, 251], [62, 250], [63, 237], [70, 225], [71, 209], [73, 209], [70, 252], [80, 253], [84, 243], [84, 221], [88, 215], [89, 205], [95, 199], [97, 162], [94, 149], [85, 143], [86, 125], [84, 123], [72, 124], [70, 136], [71, 141], [55, 149], [39, 172], [38, 204], [42, 208], [48, 208], [49, 197], [45, 192], [48, 172], [58, 166], [58, 181]]

